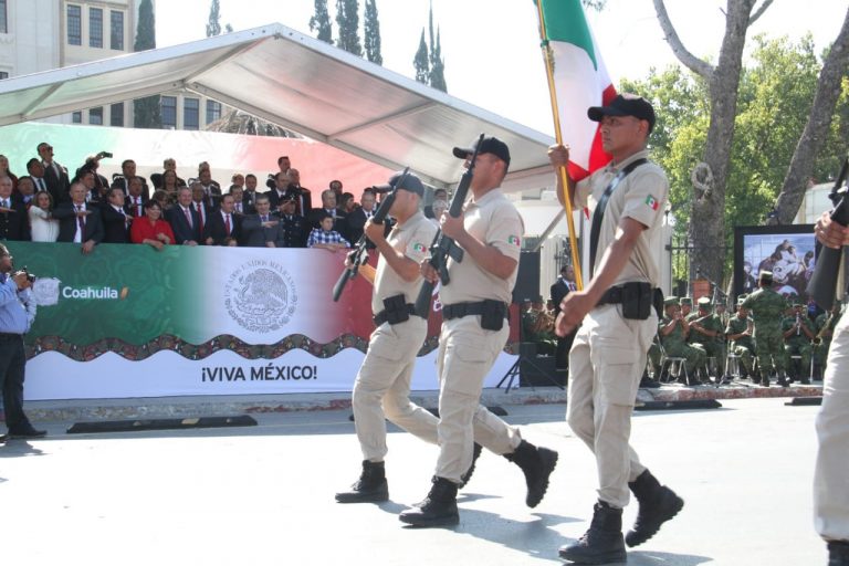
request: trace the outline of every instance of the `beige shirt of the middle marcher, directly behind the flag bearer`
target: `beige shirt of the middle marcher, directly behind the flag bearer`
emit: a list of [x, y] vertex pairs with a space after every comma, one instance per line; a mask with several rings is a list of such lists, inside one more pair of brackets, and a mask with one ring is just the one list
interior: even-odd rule
[[[524, 224], [516, 207], [501, 189], [492, 189], [480, 200], [472, 198], [463, 212], [467, 232], [518, 263]], [[517, 273], [518, 269], [515, 269], [506, 280], [500, 279], [478, 265], [469, 253], [464, 253], [460, 263], [448, 261], [451, 282], [440, 289], [439, 300], [448, 305], [484, 298], [510, 304]]]

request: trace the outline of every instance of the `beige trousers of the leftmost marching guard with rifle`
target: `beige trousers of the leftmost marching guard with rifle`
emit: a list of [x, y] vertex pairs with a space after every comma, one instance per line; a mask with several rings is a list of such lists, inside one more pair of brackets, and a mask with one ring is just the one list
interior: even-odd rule
[[354, 424], [363, 458], [381, 462], [387, 453], [386, 419], [420, 439], [437, 443], [438, 419], [410, 402], [410, 379], [416, 356], [424, 343], [428, 323], [419, 316], [371, 333], [368, 352], [354, 384]]

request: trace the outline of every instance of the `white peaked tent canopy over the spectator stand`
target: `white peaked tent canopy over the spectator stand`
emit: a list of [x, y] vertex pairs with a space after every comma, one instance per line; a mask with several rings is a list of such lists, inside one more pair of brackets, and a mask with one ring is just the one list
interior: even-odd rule
[[433, 186], [457, 180], [451, 147], [481, 133], [510, 146], [506, 189], [553, 178], [549, 136], [279, 23], [0, 81], [0, 126], [175, 90], [391, 169], [409, 165]]

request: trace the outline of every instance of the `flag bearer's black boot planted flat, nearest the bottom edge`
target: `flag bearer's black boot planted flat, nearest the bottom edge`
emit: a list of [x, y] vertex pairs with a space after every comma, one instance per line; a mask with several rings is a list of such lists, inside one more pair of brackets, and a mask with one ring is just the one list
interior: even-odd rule
[[626, 562], [622, 541], [622, 510], [614, 509], [604, 501], [593, 507], [593, 522], [578, 542], [562, 546], [560, 558], [576, 564], [608, 564]]

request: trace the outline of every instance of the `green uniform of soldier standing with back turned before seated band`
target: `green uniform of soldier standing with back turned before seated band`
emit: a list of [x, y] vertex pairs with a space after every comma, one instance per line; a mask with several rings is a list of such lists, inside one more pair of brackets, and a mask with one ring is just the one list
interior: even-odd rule
[[752, 319], [755, 323], [754, 337], [757, 364], [761, 368], [761, 382], [769, 385], [769, 368], [775, 367], [778, 375], [784, 377], [782, 317], [787, 308], [787, 301], [771, 287], [763, 286], [748, 295], [742, 306], [752, 312]]

